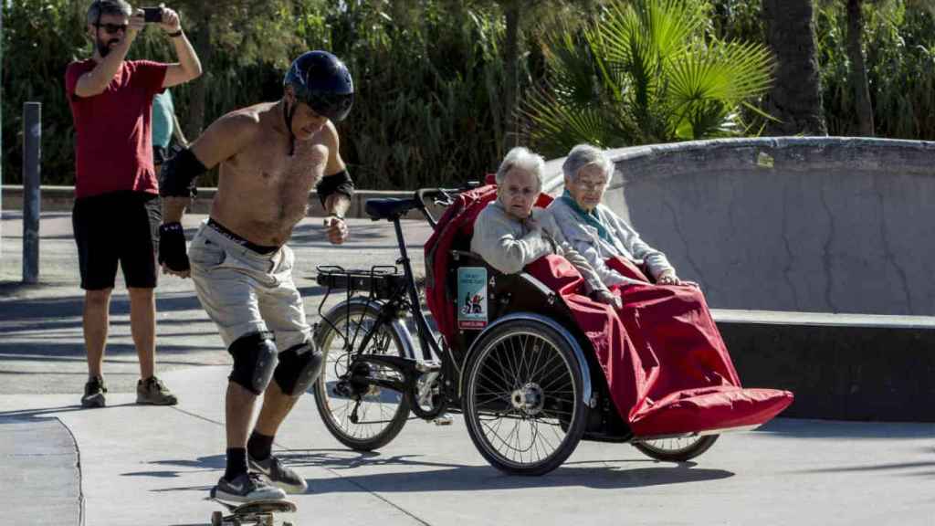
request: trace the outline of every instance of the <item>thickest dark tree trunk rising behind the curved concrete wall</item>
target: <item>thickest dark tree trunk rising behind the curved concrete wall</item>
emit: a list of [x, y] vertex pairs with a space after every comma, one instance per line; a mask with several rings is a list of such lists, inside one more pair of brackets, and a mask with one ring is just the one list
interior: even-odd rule
[[770, 135], [827, 135], [815, 51], [813, 0], [762, 0], [767, 43], [776, 57], [776, 79], [766, 110]]

